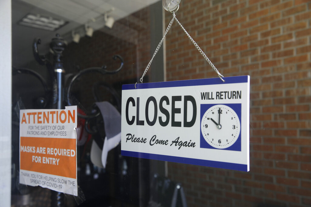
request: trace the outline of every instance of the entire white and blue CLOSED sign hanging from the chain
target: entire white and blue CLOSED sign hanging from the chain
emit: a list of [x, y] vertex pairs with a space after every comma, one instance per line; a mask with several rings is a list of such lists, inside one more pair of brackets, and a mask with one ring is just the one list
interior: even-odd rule
[[125, 156], [249, 171], [249, 76], [122, 86]]

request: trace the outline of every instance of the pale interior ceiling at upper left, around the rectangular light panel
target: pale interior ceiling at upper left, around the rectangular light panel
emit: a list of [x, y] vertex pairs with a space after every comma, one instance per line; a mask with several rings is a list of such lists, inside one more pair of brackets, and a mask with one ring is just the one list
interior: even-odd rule
[[[108, 16], [114, 17], [117, 21], [157, 1], [159, 0], [14, 0], [12, 1], [13, 66], [25, 66], [34, 59], [32, 56], [34, 38], [41, 39], [39, 52], [46, 53], [50, 40], [57, 33], [70, 42], [71, 31], [83, 32], [86, 23], [89, 23], [88, 25], [94, 30], [104, 31], [103, 14], [112, 8], [114, 11], [109, 12]], [[68, 21], [68, 24], [54, 32], [17, 25], [17, 22], [29, 13], [63, 19]], [[92, 19], [96, 21], [93, 22]], [[129, 21], [131, 20], [139, 21], [134, 17], [129, 18]]]

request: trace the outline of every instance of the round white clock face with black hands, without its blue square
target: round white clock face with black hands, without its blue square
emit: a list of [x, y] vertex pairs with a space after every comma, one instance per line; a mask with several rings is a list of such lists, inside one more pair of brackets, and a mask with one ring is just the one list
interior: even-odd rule
[[227, 105], [213, 105], [202, 116], [202, 136], [210, 146], [217, 149], [232, 146], [239, 138], [240, 131], [239, 116]]

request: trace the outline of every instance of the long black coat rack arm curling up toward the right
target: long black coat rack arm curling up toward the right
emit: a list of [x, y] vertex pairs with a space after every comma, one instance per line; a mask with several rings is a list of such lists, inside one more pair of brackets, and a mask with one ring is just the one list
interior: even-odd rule
[[117, 69], [117, 70], [106, 70], [106, 66], [103, 66], [103, 67], [91, 67], [91, 68], [86, 68], [84, 70], [81, 70], [79, 73], [77, 73], [70, 81], [69, 85], [68, 85], [68, 89], [67, 89], [67, 104], [68, 106], [71, 106], [71, 103], [70, 103], [70, 90], [71, 90], [71, 87], [72, 87], [72, 84], [77, 80], [78, 77], [80, 77], [81, 75], [83, 74], [86, 74], [86, 73], [90, 73], [90, 72], [98, 72], [100, 74], [114, 74], [114, 73], [117, 73], [119, 72], [122, 68], [123, 68], [123, 65], [124, 65], [124, 61], [123, 61], [123, 58], [119, 55], [114, 55], [112, 57], [114, 60], [117, 60], [120, 59], [121, 61], [121, 64], [120, 64], [120, 67]]

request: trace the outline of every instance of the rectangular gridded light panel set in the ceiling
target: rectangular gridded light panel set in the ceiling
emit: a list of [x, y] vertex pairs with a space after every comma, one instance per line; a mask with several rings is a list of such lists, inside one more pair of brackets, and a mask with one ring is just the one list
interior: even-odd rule
[[48, 31], [56, 31], [67, 23], [68, 22], [65, 20], [54, 19], [52, 17], [42, 16], [39, 14], [27, 14], [17, 22], [18, 25], [44, 29]]

